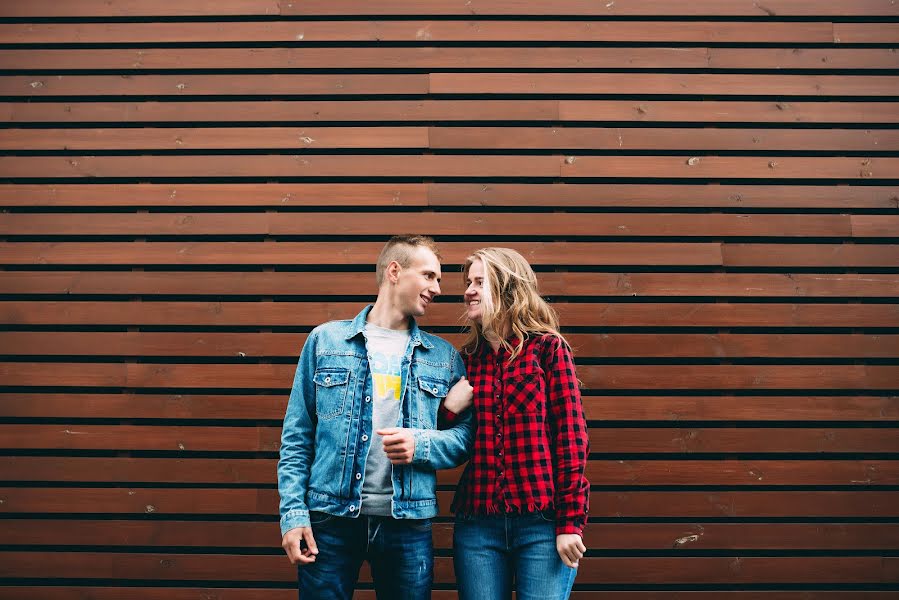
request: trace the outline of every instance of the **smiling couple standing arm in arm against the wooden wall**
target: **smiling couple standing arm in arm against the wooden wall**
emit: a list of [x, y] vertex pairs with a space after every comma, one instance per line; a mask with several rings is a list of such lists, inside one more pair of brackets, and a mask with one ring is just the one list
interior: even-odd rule
[[302, 600], [348, 600], [364, 560], [379, 600], [430, 598], [436, 470], [466, 459], [453, 500], [460, 598], [511, 598], [513, 580], [520, 600], [571, 591], [586, 550], [587, 429], [557, 317], [520, 254], [478, 250], [464, 268], [460, 355], [415, 322], [440, 276], [431, 238], [391, 238], [375, 304], [303, 347], [278, 462]]

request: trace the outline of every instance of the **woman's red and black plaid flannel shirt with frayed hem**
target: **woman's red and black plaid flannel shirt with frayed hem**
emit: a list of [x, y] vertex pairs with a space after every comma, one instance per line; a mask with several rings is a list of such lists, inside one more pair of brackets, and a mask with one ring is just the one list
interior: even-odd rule
[[582, 534], [590, 494], [587, 422], [571, 350], [557, 336], [542, 335], [526, 339], [514, 361], [508, 357], [488, 344], [463, 355], [477, 431], [452, 508], [481, 515], [550, 511], [556, 535]]

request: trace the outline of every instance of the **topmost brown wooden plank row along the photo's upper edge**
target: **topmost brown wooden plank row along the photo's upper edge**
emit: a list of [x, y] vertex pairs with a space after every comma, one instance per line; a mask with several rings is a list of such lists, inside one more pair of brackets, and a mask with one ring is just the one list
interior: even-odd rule
[[351, 0], [74, 0], [59, 5], [34, 0], [27, 5], [9, 3], [3, 17], [114, 17], [114, 16], [220, 16], [220, 15], [579, 15], [579, 16], [895, 16], [889, 0], [831, 0], [809, 5], [803, 0], [769, 0], [764, 6], [750, 0], [695, 0], [688, 5], [660, 0], [619, 0], [606, 6], [589, 0], [559, 0], [552, 5], [519, 0], [438, 0], [420, 4], [414, 0], [390, 0], [366, 6], [364, 12]]

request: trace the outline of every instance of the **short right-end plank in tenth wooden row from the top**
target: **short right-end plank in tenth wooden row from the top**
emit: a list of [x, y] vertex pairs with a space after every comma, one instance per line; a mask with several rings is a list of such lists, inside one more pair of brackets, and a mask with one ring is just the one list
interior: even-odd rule
[[899, 265], [896, 244], [722, 244], [728, 267], [792, 264], [806, 267]]

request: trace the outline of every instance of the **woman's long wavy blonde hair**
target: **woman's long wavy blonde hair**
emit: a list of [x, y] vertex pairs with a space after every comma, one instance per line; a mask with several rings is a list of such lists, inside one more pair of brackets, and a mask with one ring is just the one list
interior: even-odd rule
[[[537, 291], [537, 275], [528, 261], [511, 248], [481, 248], [465, 260], [462, 280], [475, 260], [484, 265], [481, 293], [481, 322], [472, 321], [462, 351], [471, 354], [485, 339], [485, 331], [500, 339], [512, 360], [521, 353], [528, 336], [551, 334], [568, 342], [559, 333], [559, 316]], [[513, 348], [507, 338], [515, 337]]]

